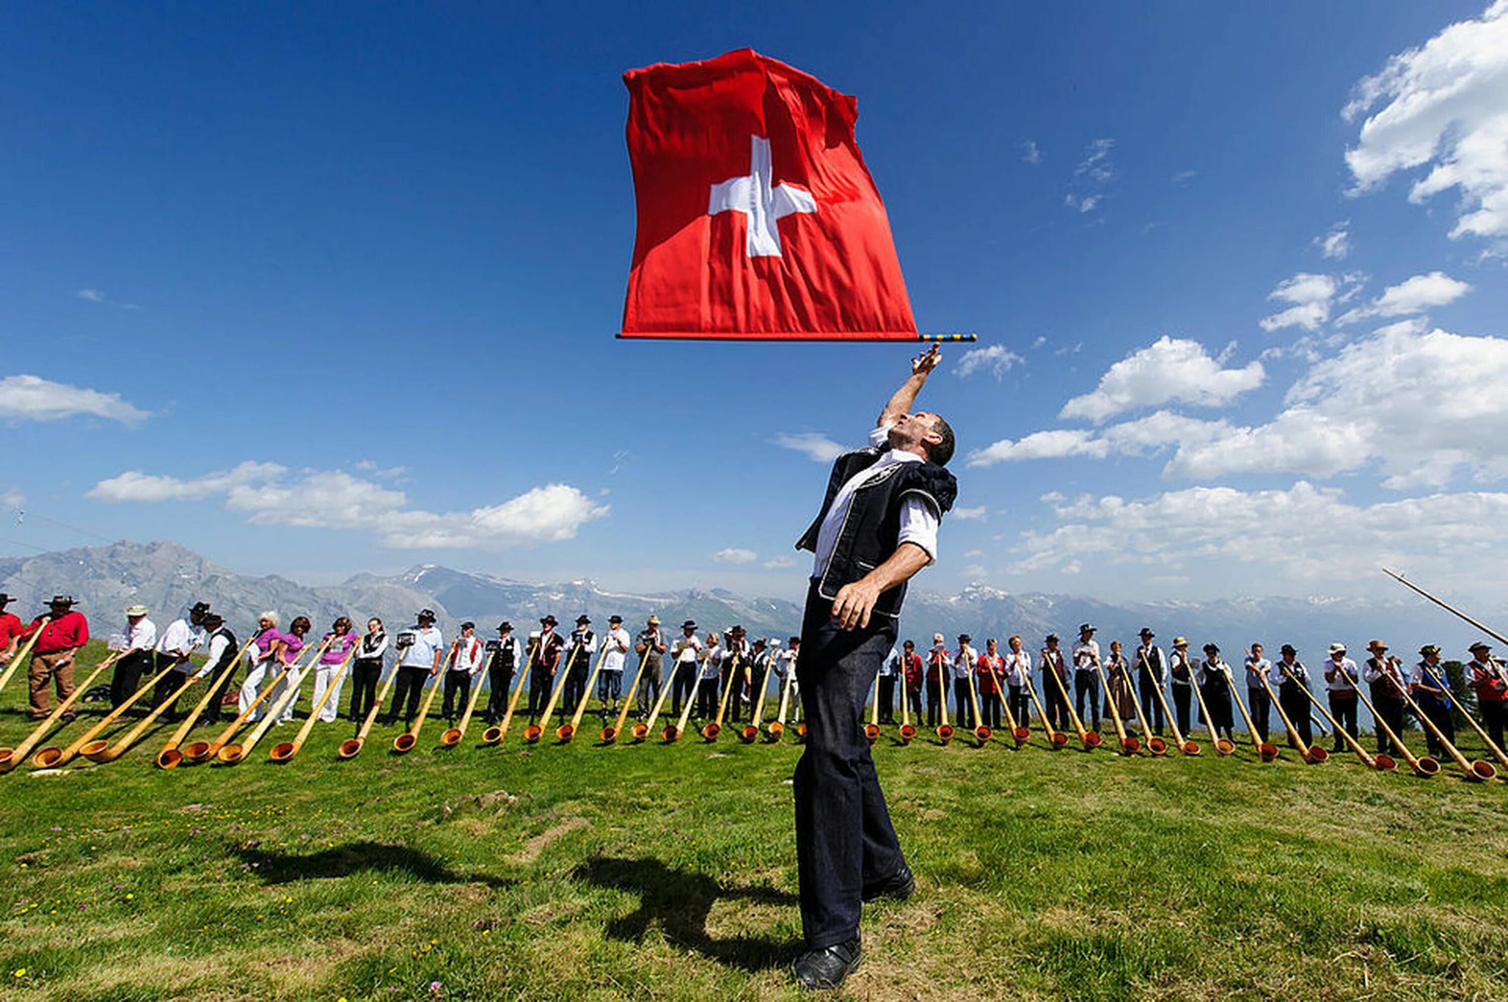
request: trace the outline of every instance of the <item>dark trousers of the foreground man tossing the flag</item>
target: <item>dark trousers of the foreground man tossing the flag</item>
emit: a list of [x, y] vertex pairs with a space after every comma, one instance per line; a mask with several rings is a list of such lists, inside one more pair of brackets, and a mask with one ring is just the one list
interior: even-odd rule
[[807, 744], [796, 762], [796, 863], [801, 928], [810, 949], [858, 934], [866, 886], [905, 865], [864, 738], [864, 702], [896, 642], [894, 621], [840, 630], [832, 601], [807, 595], [796, 681], [807, 705]]

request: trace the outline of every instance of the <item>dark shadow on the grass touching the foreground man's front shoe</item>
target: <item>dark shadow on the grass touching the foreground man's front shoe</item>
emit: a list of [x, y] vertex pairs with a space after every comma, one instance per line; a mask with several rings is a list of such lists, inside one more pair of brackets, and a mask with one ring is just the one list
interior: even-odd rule
[[608, 922], [609, 937], [641, 943], [651, 925], [659, 925], [665, 942], [691, 949], [707, 960], [746, 972], [789, 966], [801, 952], [793, 940], [768, 936], [713, 939], [707, 934], [707, 915], [719, 898], [790, 907], [796, 897], [775, 887], [725, 887], [712, 877], [671, 869], [657, 859], [615, 859], [597, 856], [572, 874], [576, 880], [626, 890], [639, 898], [632, 915]]

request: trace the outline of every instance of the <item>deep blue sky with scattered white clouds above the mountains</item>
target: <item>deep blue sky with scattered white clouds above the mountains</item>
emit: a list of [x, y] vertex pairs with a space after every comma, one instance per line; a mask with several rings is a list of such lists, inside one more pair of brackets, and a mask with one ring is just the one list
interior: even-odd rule
[[0, 551], [798, 595], [908, 350], [612, 339], [620, 75], [749, 45], [858, 96], [920, 325], [980, 338], [924, 586], [1508, 583], [1502, 2], [0, 20]]

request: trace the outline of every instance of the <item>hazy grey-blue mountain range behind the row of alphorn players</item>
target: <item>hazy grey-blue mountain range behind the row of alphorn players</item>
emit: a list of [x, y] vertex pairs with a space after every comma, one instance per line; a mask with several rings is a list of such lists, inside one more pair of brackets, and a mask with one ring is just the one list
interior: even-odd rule
[[[201, 600], [225, 615], [232, 628], [244, 628], [264, 609], [279, 610], [285, 624], [305, 613], [323, 630], [339, 615], [351, 616], [357, 628], [374, 615], [391, 627], [407, 625], [425, 607], [436, 610], [448, 634], [463, 619], [475, 619], [486, 636], [501, 619], [528, 630], [546, 613], [553, 613], [567, 630], [581, 613], [591, 616], [597, 630], [606, 628], [612, 613], [621, 615], [630, 630], [641, 627], [650, 613], [671, 630], [683, 619], [695, 619], [703, 630], [737, 622], [749, 636], [781, 639], [801, 625], [801, 607], [784, 598], [751, 598], [724, 589], [633, 595], [605, 591], [590, 580], [534, 585], [436, 565], [388, 577], [357, 574], [339, 585], [311, 588], [279, 576], [237, 574], [176, 542], [116, 542], [0, 558], [0, 591], [18, 598], [11, 610], [23, 616], [39, 612], [42, 601], [54, 594], [71, 594], [100, 636], [118, 631], [116, 624], [124, 625], [122, 610], [133, 603], [145, 604], [163, 625]], [[976, 637], [976, 646], [983, 646], [983, 637], [1004, 642], [1019, 633], [1028, 649], [1036, 649], [1054, 631], [1068, 645], [1078, 625], [1090, 622], [1107, 649], [1111, 639], [1131, 646], [1137, 630], [1149, 625], [1164, 646], [1181, 633], [1196, 649], [1214, 640], [1229, 660], [1237, 660], [1252, 640], [1262, 640], [1270, 652], [1280, 643], [1294, 643], [1309, 663], [1320, 661], [1333, 640], [1347, 643], [1353, 657], [1362, 657], [1372, 637], [1386, 639], [1405, 658], [1422, 643], [1442, 645], [1446, 657], [1464, 655], [1466, 645], [1478, 637], [1472, 627], [1402, 588], [1399, 592], [1390, 601], [1243, 597], [1116, 604], [970, 585], [956, 595], [912, 591], [900, 627], [902, 637], [915, 639], [918, 646], [929, 645], [933, 631], [942, 633], [949, 646], [959, 633]]]

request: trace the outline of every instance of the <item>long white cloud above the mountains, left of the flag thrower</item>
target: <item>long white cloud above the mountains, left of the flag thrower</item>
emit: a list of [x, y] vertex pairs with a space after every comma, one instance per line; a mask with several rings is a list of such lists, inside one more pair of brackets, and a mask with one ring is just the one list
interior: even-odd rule
[[546, 484], [501, 505], [464, 512], [409, 508], [407, 496], [344, 470], [306, 470], [290, 478], [276, 463], [241, 463], [232, 470], [178, 479], [128, 470], [100, 481], [89, 497], [103, 502], [204, 500], [225, 496], [225, 508], [253, 524], [305, 529], [363, 529], [395, 550], [502, 550], [572, 539], [582, 524], [603, 518], [575, 487]]

